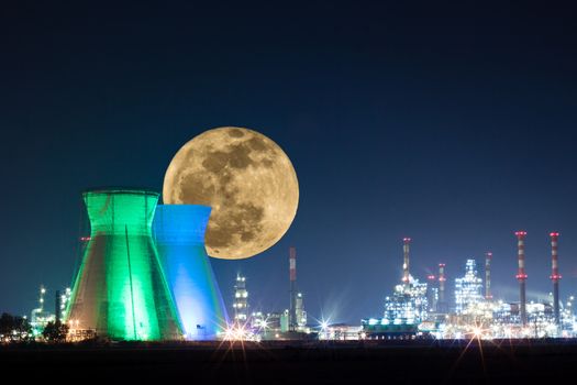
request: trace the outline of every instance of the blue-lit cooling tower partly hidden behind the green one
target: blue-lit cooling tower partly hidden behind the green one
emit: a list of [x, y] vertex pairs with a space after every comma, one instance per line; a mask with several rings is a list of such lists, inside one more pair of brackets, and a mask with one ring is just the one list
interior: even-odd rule
[[160, 205], [153, 238], [187, 339], [213, 340], [228, 324], [226, 308], [204, 249], [211, 208]]

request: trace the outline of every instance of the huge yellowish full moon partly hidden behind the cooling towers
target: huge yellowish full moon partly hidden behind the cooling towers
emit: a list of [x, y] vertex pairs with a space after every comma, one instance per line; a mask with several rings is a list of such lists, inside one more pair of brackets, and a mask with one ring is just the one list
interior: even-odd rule
[[264, 252], [287, 232], [299, 205], [299, 183], [275, 142], [253, 130], [224, 127], [201, 133], [176, 153], [163, 200], [212, 207], [208, 254], [240, 260]]

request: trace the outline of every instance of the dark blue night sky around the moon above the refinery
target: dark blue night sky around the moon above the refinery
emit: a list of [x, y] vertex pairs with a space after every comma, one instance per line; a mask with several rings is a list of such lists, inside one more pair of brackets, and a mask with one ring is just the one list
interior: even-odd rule
[[[257, 130], [300, 185], [285, 238], [213, 261], [232, 302], [288, 307], [288, 248], [310, 321], [380, 316], [402, 238], [424, 278], [493, 252], [497, 298], [577, 294], [577, 12], [554, 2], [208, 1], [95, 8], [13, 1], [0, 12], [0, 311], [70, 285], [80, 191], [162, 190], [178, 148], [204, 130]], [[80, 4], [81, 3], [81, 4]], [[125, 4], [125, 2], [122, 2]], [[547, 8], [544, 8], [547, 7]]]

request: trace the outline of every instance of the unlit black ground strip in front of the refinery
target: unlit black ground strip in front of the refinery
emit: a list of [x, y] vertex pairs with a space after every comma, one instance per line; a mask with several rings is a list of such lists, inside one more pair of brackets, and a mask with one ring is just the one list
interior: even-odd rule
[[[577, 343], [274, 342], [0, 348], [4, 378], [62, 383], [577, 383]], [[3, 382], [2, 382], [3, 383]]]

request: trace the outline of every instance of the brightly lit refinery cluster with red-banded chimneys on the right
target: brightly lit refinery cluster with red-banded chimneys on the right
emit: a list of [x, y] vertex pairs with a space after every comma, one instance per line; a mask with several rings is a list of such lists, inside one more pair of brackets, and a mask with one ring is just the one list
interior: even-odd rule
[[[485, 284], [474, 258], [466, 260], [465, 274], [454, 279], [454, 306], [446, 305], [445, 264], [439, 278], [420, 283], [409, 273], [410, 239], [403, 239], [403, 274], [393, 294], [385, 298], [384, 317], [362, 320], [366, 339], [526, 339], [575, 338], [577, 319], [574, 296], [559, 299], [558, 232], [552, 232], [553, 293], [550, 301], [526, 300], [525, 231], [517, 231], [519, 301], [495, 300], [491, 292], [492, 253], [485, 254]], [[485, 290], [484, 290], [485, 288]]]

